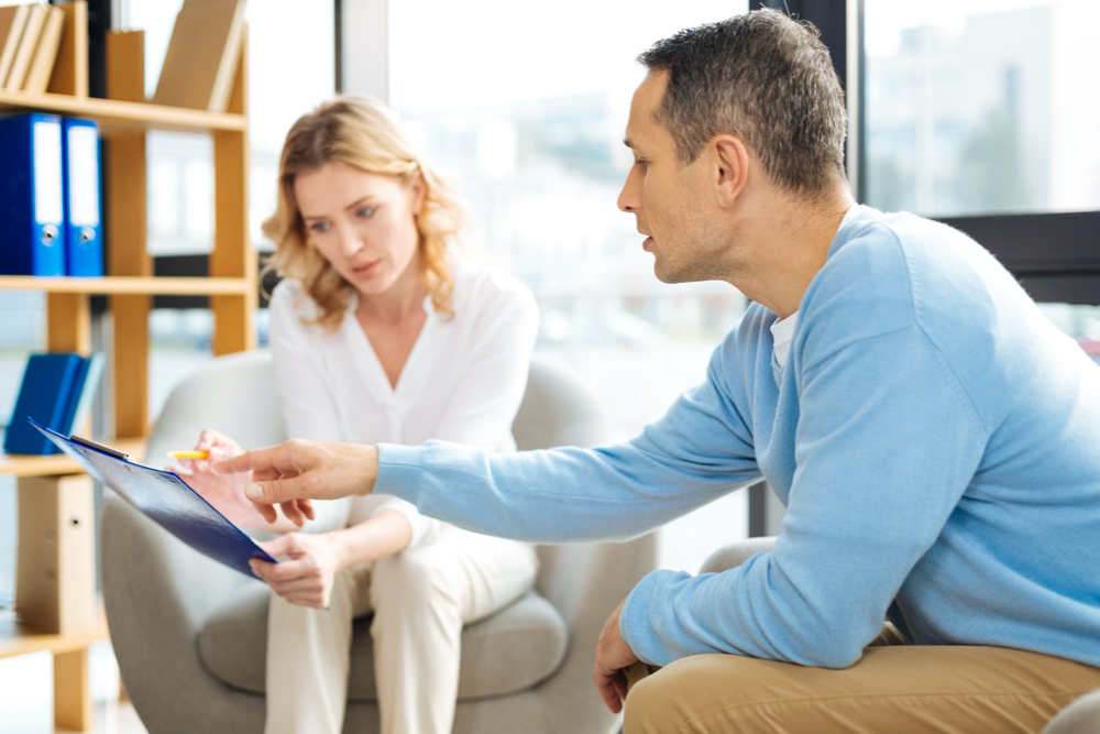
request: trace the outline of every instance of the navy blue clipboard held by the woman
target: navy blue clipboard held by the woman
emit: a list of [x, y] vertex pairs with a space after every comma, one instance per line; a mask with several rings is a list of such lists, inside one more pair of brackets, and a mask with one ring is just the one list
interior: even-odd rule
[[85, 471], [200, 554], [253, 578], [250, 559], [276, 562], [241, 528], [187, 486], [179, 474], [143, 467], [123, 454], [116, 456], [74, 441], [30, 417], [28, 420]]

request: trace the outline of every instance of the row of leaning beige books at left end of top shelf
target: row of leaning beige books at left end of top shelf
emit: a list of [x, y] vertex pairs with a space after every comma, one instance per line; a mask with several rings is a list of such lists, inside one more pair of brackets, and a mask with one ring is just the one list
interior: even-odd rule
[[0, 8], [0, 89], [44, 92], [64, 30], [61, 8], [41, 3]]

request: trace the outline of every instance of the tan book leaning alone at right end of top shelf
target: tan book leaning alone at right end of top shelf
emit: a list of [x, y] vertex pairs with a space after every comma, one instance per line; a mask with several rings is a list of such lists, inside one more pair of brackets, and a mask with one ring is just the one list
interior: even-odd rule
[[241, 56], [245, 0], [184, 0], [153, 102], [224, 112]]

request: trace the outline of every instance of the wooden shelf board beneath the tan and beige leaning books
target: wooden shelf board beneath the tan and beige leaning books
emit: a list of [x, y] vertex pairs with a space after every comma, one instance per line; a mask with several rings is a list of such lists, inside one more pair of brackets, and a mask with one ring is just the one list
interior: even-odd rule
[[230, 112], [207, 112], [147, 102], [9, 90], [0, 90], [0, 110], [33, 110], [90, 118], [99, 121], [107, 134], [127, 130], [243, 132], [249, 125], [248, 117]]

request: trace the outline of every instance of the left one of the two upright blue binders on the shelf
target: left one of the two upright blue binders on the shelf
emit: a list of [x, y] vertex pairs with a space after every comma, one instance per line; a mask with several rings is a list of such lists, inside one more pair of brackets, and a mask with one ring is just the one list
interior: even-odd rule
[[0, 275], [64, 275], [62, 120], [0, 118]]

